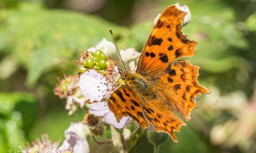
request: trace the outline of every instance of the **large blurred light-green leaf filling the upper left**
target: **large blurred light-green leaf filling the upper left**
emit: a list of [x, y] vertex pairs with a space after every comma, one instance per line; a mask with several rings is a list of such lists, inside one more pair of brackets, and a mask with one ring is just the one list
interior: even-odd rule
[[[17, 10], [2, 10], [0, 49], [7, 49], [28, 69], [29, 86], [55, 66], [68, 68], [83, 50], [95, 46], [103, 37], [112, 40], [123, 29], [101, 18], [62, 10], [46, 10], [40, 3], [22, 3]], [[68, 71], [68, 69], [67, 69]], [[73, 69], [69, 70], [74, 73]]]

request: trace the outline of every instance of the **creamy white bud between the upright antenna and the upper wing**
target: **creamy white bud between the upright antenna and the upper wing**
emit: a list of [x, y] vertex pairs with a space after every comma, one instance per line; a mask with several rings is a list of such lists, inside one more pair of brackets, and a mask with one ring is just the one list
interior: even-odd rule
[[124, 62], [129, 62], [140, 57], [140, 53], [135, 50], [135, 48], [127, 48], [125, 50], [120, 50], [120, 55]]

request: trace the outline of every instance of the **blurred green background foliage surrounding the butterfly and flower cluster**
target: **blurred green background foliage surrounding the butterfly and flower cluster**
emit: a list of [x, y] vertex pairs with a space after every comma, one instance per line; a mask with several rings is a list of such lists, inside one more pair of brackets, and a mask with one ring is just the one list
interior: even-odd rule
[[[0, 152], [48, 134], [64, 138], [84, 110], [67, 115], [66, 100], [53, 93], [57, 77], [76, 74], [81, 51], [103, 37], [119, 49], [141, 51], [153, 20], [173, 0], [0, 1]], [[160, 152], [256, 152], [256, 1], [183, 0], [192, 13], [183, 32], [197, 41], [199, 83], [212, 93], [196, 98], [187, 127]], [[89, 140], [91, 152], [108, 152]], [[153, 152], [146, 134], [130, 151]]]

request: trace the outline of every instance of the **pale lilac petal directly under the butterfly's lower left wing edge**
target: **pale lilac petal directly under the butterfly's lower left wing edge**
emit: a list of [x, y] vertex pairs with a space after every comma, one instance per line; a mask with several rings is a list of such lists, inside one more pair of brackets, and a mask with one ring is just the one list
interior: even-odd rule
[[106, 123], [112, 124], [116, 128], [124, 128], [125, 126], [130, 125], [130, 121], [131, 121], [129, 116], [125, 116], [118, 123], [114, 113], [112, 113], [112, 112], [108, 112], [108, 113], [104, 114], [103, 117], [104, 117], [104, 120]]

